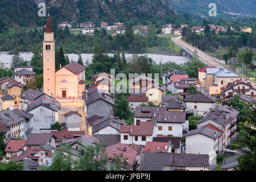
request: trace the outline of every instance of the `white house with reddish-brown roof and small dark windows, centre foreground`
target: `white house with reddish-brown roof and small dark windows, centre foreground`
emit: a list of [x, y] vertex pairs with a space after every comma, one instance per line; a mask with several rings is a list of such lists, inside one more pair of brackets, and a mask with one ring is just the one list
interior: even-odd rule
[[155, 122], [141, 122], [140, 125], [122, 125], [119, 130], [121, 143], [145, 145], [156, 137]]

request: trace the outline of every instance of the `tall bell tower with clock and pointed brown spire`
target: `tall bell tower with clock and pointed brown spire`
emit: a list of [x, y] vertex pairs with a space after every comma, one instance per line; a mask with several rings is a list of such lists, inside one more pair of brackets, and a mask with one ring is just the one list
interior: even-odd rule
[[47, 18], [43, 41], [43, 81], [44, 93], [55, 96], [55, 40], [51, 20]]

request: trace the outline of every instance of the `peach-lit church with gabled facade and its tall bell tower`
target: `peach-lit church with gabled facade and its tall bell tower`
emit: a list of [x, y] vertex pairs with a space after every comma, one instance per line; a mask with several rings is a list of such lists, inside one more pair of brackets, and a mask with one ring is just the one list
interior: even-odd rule
[[47, 18], [43, 41], [43, 91], [55, 98], [77, 99], [85, 91], [85, 67], [69, 63], [55, 71], [55, 40], [51, 20]]

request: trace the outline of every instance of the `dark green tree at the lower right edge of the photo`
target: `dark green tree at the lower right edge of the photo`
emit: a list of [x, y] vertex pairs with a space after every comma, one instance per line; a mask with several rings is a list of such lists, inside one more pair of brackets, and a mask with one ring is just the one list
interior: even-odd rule
[[246, 122], [241, 125], [242, 129], [240, 137], [242, 142], [249, 148], [250, 151], [245, 151], [237, 159], [238, 165], [235, 167], [236, 170], [240, 171], [255, 171], [256, 170], [256, 102], [254, 101], [249, 105], [249, 115]]

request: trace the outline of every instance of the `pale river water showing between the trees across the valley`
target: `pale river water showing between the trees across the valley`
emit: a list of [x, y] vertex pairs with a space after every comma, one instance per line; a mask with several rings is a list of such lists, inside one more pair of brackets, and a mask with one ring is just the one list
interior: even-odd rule
[[[69, 60], [73, 60], [73, 61], [77, 61], [79, 56], [75, 53], [68, 53], [67, 54], [69, 57]], [[109, 56], [113, 56], [113, 53], [108, 53]], [[126, 59], [129, 60], [129, 58], [132, 56], [133, 54], [130, 53], [126, 53]], [[143, 54], [139, 54], [143, 55]], [[151, 57], [156, 63], [160, 63], [161, 61], [161, 57], [162, 57], [162, 63], [166, 63], [168, 61], [173, 61], [177, 64], [184, 64], [187, 61], [189, 61], [188, 57], [186, 56], [167, 56], [167, 55], [158, 55], [158, 54], [154, 54], [154, 53], [147, 53], [146, 54], [148, 57]], [[5, 68], [9, 68], [10, 67], [10, 63], [11, 63], [11, 57], [13, 55], [9, 55], [7, 54], [7, 52], [0, 52], [0, 63], [5, 63]], [[20, 52], [20, 57], [22, 57], [24, 60], [30, 61], [31, 58], [33, 56], [32, 52]], [[88, 60], [89, 63], [92, 61], [92, 53], [82, 53], [82, 60], [85, 61]]]

